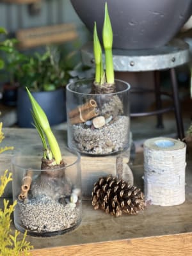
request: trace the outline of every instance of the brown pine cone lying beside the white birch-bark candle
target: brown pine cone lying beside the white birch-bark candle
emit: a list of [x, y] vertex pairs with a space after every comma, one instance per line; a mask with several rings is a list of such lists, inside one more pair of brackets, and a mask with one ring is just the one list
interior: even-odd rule
[[95, 182], [92, 205], [95, 210], [100, 208], [118, 217], [122, 212], [137, 214], [143, 211], [145, 200], [140, 189], [127, 184], [125, 180], [109, 175]]

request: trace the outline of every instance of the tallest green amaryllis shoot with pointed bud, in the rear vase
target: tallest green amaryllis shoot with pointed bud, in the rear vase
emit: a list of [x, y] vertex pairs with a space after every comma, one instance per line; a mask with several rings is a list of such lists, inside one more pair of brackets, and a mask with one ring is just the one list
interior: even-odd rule
[[111, 27], [111, 21], [108, 13], [108, 4], [105, 4], [105, 16], [104, 26], [102, 29], [102, 40], [104, 45], [105, 57], [106, 57], [106, 80], [107, 83], [114, 83], [114, 69], [113, 69], [113, 31]]

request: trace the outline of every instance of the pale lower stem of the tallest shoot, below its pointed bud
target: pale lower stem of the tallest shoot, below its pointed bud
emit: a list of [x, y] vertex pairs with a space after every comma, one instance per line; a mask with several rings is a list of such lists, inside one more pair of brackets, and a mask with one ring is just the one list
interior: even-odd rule
[[105, 49], [107, 83], [114, 84], [113, 54], [111, 49]]

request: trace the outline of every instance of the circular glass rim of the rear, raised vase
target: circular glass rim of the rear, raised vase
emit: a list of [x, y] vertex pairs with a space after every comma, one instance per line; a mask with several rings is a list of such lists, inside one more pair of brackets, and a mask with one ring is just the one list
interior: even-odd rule
[[120, 92], [112, 92], [112, 93], [84, 93], [84, 92], [75, 92], [74, 90], [70, 89], [70, 86], [72, 84], [76, 84], [76, 83], [83, 83], [83, 81], [94, 81], [95, 79], [94, 78], [84, 78], [84, 79], [79, 79], [77, 81], [72, 81], [70, 83], [67, 84], [66, 88], [67, 88], [67, 91], [68, 92], [72, 92], [72, 93], [76, 93], [76, 94], [79, 94], [79, 95], [95, 95], [95, 96], [99, 96], [99, 95], [117, 95], [117, 94], [121, 94], [121, 93], [124, 93], [124, 92], [127, 92], [129, 90], [131, 90], [131, 85], [124, 81], [124, 80], [121, 80], [121, 79], [115, 79], [115, 81], [117, 82], [120, 82], [120, 83], [123, 83], [123, 84], [126, 84], [127, 85], [127, 88], [125, 88], [124, 90], [120, 91]]

